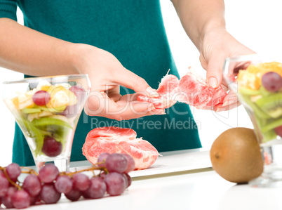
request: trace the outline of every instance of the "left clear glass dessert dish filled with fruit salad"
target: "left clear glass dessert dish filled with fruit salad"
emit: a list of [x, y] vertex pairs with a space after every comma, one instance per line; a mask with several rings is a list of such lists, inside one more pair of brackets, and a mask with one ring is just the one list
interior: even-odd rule
[[4, 82], [3, 99], [20, 126], [37, 170], [54, 162], [69, 169], [76, 124], [90, 91], [86, 74]]

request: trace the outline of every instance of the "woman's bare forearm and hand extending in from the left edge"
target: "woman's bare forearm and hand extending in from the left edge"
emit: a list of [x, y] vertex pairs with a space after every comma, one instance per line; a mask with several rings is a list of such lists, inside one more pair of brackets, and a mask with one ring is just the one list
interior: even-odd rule
[[119, 85], [147, 96], [158, 93], [100, 48], [63, 41], [9, 18], [0, 18], [0, 46], [1, 67], [39, 77], [88, 74], [92, 89], [86, 103], [87, 114], [118, 120], [163, 114], [150, 103], [138, 103], [134, 96], [121, 97]]

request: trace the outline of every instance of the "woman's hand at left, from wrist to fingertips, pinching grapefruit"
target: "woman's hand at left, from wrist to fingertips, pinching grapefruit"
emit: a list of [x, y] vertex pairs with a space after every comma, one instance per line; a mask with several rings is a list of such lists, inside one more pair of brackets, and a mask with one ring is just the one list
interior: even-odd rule
[[[152, 103], [138, 102], [137, 93], [159, 96], [145, 79], [126, 70], [111, 53], [86, 44], [75, 44], [75, 66], [80, 74], [88, 74], [91, 91], [84, 108], [86, 114], [123, 120], [152, 114], [165, 114]], [[119, 86], [133, 89], [135, 94], [121, 96]]]

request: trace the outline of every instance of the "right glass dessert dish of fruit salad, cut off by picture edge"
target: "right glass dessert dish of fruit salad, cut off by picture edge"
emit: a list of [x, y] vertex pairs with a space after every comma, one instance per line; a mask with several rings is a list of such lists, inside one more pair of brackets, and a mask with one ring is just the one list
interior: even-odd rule
[[248, 112], [264, 160], [262, 175], [249, 184], [282, 186], [282, 64], [244, 55], [227, 58], [223, 71], [224, 80]]

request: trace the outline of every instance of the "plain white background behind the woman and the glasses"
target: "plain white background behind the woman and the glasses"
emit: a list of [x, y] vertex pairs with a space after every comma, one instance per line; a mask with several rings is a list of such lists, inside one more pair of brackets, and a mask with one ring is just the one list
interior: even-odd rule
[[[282, 62], [281, 0], [229, 0], [225, 4], [228, 31], [267, 60]], [[168, 40], [180, 76], [187, 71], [188, 66], [204, 76], [206, 72], [199, 62], [199, 52], [182, 29], [173, 5], [169, 0], [161, 0], [161, 6]], [[20, 11], [18, 21], [22, 23]], [[22, 74], [0, 68], [0, 83], [22, 77]], [[2, 94], [2, 86], [0, 93]], [[253, 128], [242, 106], [219, 114], [193, 108], [192, 112], [196, 122], [200, 124], [199, 133], [204, 150], [209, 150], [213, 140], [231, 127]], [[14, 124], [13, 115], [0, 100], [0, 166], [11, 163]]]

